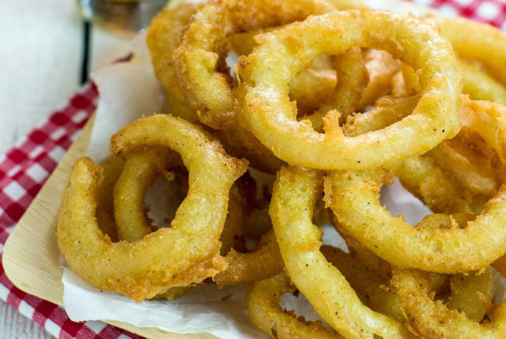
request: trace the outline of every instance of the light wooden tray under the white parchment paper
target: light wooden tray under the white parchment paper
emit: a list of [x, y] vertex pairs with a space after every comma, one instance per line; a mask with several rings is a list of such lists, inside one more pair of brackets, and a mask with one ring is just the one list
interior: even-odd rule
[[[56, 216], [63, 187], [74, 160], [83, 155], [90, 142], [94, 117], [88, 121], [44, 187], [7, 239], [3, 264], [7, 277], [23, 291], [63, 306], [63, 269], [56, 240]], [[180, 334], [152, 327], [137, 327], [120, 321], [105, 322], [152, 339], [217, 338], [209, 333]]]

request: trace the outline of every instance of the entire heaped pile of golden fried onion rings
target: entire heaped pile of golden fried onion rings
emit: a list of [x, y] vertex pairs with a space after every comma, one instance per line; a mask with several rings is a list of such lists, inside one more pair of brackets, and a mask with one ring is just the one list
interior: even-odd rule
[[[162, 11], [147, 43], [172, 114], [74, 164], [58, 243], [79, 276], [136, 302], [249, 283], [273, 338], [506, 337], [489, 266], [506, 273], [504, 33], [355, 0], [212, 0]], [[160, 175], [184, 196], [164, 228], [144, 202]], [[392, 216], [395, 177], [434, 214]], [[322, 245], [327, 213], [349, 252]], [[295, 291], [330, 327], [282, 309]]]

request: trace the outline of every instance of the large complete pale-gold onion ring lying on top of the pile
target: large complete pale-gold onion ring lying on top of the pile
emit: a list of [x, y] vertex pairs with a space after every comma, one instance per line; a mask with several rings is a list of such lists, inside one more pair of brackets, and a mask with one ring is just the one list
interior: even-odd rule
[[[370, 168], [428, 151], [460, 128], [456, 108], [462, 84], [451, 45], [412, 16], [377, 10], [332, 12], [256, 38], [259, 46], [240, 57], [236, 69], [242, 80], [241, 116], [251, 133], [289, 164]], [[385, 49], [423, 70], [423, 92], [413, 114], [354, 138], [343, 136], [336, 114], [327, 115], [324, 135], [297, 122], [287, 83], [316, 55], [339, 54], [357, 45]], [[410, 142], [415, 139], [419, 142]]]

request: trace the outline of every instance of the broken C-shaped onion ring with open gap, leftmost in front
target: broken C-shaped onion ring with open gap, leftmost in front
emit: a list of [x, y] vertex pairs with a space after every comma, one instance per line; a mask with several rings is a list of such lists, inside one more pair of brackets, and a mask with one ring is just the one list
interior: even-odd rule
[[[139, 241], [111, 243], [94, 218], [101, 168], [85, 157], [76, 161], [65, 186], [57, 232], [60, 250], [74, 272], [97, 288], [119, 291], [136, 302], [226, 268], [219, 255], [219, 237], [228, 191], [246, 170], [244, 160], [226, 155], [201, 129], [171, 115], [141, 118], [111, 138], [111, 149], [118, 155], [142, 144], [181, 152], [189, 168], [190, 189], [172, 227]], [[199, 208], [191, 208], [192, 204]], [[208, 212], [202, 214], [202, 209]], [[199, 247], [188, 251], [195, 243]]]

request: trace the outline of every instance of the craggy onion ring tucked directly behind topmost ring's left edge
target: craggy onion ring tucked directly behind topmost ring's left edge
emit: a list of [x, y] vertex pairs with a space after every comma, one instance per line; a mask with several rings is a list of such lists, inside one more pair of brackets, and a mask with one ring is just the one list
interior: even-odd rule
[[[273, 156], [238, 121], [234, 80], [225, 62], [228, 37], [333, 11], [323, 0], [224, 0], [209, 2], [192, 18], [174, 52], [177, 71], [199, 120], [226, 131], [228, 143]], [[240, 141], [240, 142], [239, 142]]]

